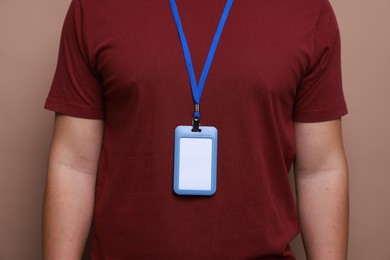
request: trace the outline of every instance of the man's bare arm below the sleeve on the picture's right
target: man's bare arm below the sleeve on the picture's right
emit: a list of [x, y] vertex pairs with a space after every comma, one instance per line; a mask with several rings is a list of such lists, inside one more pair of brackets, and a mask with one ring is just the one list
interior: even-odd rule
[[345, 260], [348, 169], [341, 121], [295, 123], [295, 182], [308, 260]]

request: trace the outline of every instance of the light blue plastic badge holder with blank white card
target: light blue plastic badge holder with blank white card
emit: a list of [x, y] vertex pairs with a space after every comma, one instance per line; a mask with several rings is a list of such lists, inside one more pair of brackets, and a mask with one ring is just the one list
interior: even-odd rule
[[217, 190], [218, 130], [201, 126], [175, 129], [173, 190], [178, 195], [211, 196]]

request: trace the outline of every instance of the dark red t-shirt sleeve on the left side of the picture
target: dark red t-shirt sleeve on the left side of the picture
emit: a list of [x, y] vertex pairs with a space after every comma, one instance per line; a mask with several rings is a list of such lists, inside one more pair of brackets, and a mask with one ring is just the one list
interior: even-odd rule
[[57, 68], [45, 108], [75, 117], [103, 119], [103, 89], [87, 41], [82, 5], [73, 0], [63, 25]]

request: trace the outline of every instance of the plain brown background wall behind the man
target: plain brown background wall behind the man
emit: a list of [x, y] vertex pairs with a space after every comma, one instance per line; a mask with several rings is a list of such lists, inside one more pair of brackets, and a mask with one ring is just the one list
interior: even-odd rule
[[[0, 0], [0, 259], [41, 259], [53, 114], [42, 109], [70, 0]], [[342, 31], [349, 260], [390, 260], [390, 1], [332, 0]], [[305, 259], [300, 239], [293, 248]]]

